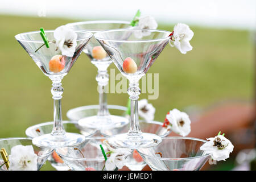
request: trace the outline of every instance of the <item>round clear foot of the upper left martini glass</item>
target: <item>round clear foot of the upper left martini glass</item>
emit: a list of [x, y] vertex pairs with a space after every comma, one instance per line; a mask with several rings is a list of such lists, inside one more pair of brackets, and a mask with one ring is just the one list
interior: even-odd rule
[[41, 135], [33, 138], [32, 142], [38, 147], [60, 148], [77, 146], [85, 141], [84, 135], [76, 133], [65, 133], [64, 136], [53, 136], [51, 134]]

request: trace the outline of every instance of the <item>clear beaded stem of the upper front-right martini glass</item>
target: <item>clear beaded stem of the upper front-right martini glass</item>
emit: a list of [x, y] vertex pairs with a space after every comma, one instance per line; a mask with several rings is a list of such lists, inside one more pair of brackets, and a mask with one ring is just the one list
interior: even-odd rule
[[129, 88], [128, 94], [131, 100], [131, 124], [128, 131], [128, 135], [133, 137], [139, 137], [142, 135], [141, 127], [139, 126], [139, 110], [138, 110], [138, 99], [139, 94], [141, 94], [141, 89], [139, 89], [139, 79], [141, 77], [129, 77]]

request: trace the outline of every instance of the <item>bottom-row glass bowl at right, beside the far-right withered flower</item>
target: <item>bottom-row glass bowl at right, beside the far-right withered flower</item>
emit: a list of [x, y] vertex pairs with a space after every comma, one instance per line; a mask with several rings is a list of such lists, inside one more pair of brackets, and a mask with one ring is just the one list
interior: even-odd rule
[[189, 137], [164, 137], [158, 146], [139, 148], [138, 152], [154, 171], [195, 171], [210, 158], [200, 150], [205, 142]]

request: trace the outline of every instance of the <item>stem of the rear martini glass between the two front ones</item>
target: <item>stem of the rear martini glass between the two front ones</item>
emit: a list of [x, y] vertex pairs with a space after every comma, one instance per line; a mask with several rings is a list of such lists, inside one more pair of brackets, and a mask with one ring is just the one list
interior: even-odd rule
[[100, 109], [98, 110], [99, 116], [109, 115], [107, 95], [105, 93], [105, 87], [109, 83], [109, 74], [108, 74], [107, 68], [108, 67], [98, 67], [98, 75], [96, 76], [96, 80], [98, 82], [99, 105], [100, 105]]

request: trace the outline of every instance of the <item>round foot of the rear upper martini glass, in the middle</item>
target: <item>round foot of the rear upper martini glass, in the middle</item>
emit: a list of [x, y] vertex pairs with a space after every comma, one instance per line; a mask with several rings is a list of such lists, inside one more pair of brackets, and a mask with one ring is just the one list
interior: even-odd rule
[[80, 119], [78, 123], [80, 127], [101, 130], [125, 126], [129, 123], [129, 120], [117, 115], [93, 115], [91, 117]]

